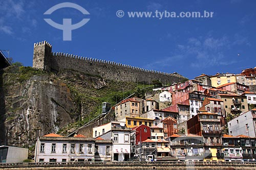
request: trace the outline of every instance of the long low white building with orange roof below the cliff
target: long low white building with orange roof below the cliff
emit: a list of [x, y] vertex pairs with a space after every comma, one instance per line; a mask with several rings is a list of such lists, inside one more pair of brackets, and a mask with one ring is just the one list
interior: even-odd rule
[[94, 161], [95, 139], [83, 135], [63, 137], [48, 134], [37, 138], [35, 162]]

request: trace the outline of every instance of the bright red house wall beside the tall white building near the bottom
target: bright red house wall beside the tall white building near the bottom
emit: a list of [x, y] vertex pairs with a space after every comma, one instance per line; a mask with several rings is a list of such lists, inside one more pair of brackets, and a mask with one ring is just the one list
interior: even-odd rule
[[[148, 126], [140, 125], [138, 127], [132, 128], [135, 131], [135, 144], [139, 144], [140, 141], [151, 138], [151, 129]], [[141, 134], [141, 135], [140, 135]]]

